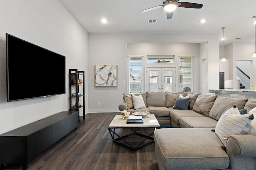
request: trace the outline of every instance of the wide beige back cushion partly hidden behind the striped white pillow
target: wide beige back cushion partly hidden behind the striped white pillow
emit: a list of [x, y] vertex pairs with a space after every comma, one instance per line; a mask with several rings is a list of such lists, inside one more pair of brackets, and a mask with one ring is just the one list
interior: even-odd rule
[[225, 109], [229, 106], [236, 104], [238, 110], [243, 109], [248, 98], [239, 99], [239, 98], [230, 98], [230, 97], [222, 97], [218, 96], [210, 110], [209, 116], [215, 120], [220, 119], [220, 115], [223, 113]]

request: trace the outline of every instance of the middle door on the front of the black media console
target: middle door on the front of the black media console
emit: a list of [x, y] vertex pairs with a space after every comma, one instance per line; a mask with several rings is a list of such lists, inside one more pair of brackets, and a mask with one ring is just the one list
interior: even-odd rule
[[68, 117], [52, 124], [52, 144], [68, 134]]

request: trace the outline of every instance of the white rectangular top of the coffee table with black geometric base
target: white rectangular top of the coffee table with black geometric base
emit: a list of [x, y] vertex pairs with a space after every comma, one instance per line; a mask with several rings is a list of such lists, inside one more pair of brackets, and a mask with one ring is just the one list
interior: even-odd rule
[[123, 128], [123, 127], [160, 127], [155, 115], [146, 115], [143, 117], [143, 123], [127, 124], [126, 120], [121, 115], [116, 115], [109, 124], [108, 128]]

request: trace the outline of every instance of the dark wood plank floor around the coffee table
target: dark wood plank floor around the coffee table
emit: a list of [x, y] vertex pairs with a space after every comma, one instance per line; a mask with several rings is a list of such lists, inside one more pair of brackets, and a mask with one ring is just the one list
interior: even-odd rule
[[[28, 164], [28, 170], [159, 170], [154, 143], [131, 151], [112, 142], [108, 125], [116, 113], [88, 113], [72, 131]], [[120, 129], [128, 133], [129, 129]], [[144, 132], [152, 129], [142, 129]], [[149, 132], [148, 132], [149, 133]], [[131, 140], [136, 140], [135, 137]], [[8, 165], [5, 169], [22, 169]]]

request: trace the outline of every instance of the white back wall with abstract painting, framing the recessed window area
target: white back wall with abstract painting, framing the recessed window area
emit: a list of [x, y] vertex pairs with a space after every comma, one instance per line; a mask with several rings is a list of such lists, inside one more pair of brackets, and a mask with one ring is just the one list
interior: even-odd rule
[[[219, 86], [219, 35], [218, 34], [167, 34], [163, 39], [162, 34], [88, 34], [88, 90], [89, 111], [108, 112], [119, 111], [118, 105], [122, 102], [123, 93], [127, 91], [127, 43], [203, 43], [207, 42], [204, 50], [207, 58], [206, 83], [199, 88], [207, 86], [208, 89]], [[175, 37], [178, 37], [175, 39]], [[141, 55], [141, 54], [140, 54]], [[143, 54], [142, 54], [143, 55]], [[117, 64], [118, 86], [95, 87], [94, 65]], [[217, 67], [216, 67], [217, 66]], [[199, 67], [199, 66], [198, 66]], [[204, 67], [205, 69], [206, 67]], [[122, 82], [125, 81], [125, 84]], [[200, 81], [200, 80], [194, 80]], [[100, 102], [100, 105], [97, 105]]]

